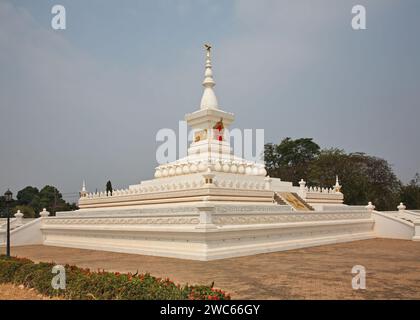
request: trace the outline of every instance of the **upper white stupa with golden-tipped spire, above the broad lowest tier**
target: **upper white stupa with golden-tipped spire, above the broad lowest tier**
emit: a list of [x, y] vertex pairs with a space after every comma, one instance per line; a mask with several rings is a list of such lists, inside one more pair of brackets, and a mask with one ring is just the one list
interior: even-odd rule
[[[198, 110], [185, 116], [194, 141], [188, 155], [156, 168], [153, 180], [142, 181], [110, 194], [81, 193], [81, 209], [157, 203], [217, 201], [229, 203], [289, 204], [294, 210], [311, 210], [311, 204], [341, 204], [343, 195], [334, 188], [310, 190], [301, 185], [267, 177], [264, 164], [233, 155], [225, 129], [234, 121], [232, 113], [219, 108], [211, 63], [211, 46], [206, 47], [203, 96]], [[323, 192], [322, 192], [323, 191]], [[337, 191], [337, 192], [336, 192]], [[277, 193], [277, 194], [275, 194]], [[309, 198], [308, 194], [311, 195]], [[308, 202], [306, 201], [308, 198]]]

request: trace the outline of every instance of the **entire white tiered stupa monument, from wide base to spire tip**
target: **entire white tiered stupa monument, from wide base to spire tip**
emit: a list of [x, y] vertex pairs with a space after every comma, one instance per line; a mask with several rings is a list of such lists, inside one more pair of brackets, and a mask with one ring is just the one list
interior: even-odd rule
[[234, 156], [224, 137], [234, 115], [219, 108], [210, 49], [200, 107], [185, 116], [194, 132], [187, 156], [112, 195], [89, 193], [83, 183], [80, 209], [43, 214], [27, 227], [32, 243], [213, 260], [378, 235], [420, 239], [413, 237], [420, 222], [409, 226], [372, 206], [344, 205], [338, 177], [331, 188], [308, 188], [303, 179], [293, 186], [266, 176], [263, 164]]

